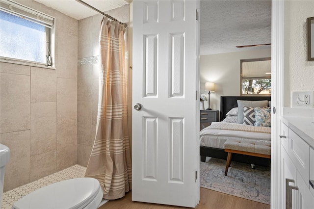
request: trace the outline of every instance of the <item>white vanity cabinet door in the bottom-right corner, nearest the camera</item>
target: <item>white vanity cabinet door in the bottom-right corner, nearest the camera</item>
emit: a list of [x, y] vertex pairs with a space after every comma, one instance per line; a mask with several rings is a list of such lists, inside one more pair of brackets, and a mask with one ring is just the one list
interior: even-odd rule
[[296, 172], [296, 186], [298, 191], [298, 209], [314, 209], [314, 196], [304, 183], [299, 171]]

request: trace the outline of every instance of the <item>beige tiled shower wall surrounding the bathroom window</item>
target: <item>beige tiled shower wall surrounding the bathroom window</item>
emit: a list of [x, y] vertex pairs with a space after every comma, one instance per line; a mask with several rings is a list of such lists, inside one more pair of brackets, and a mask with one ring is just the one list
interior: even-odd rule
[[77, 163], [78, 21], [18, 2], [56, 18], [56, 69], [0, 63], [0, 142], [11, 150], [4, 191]]

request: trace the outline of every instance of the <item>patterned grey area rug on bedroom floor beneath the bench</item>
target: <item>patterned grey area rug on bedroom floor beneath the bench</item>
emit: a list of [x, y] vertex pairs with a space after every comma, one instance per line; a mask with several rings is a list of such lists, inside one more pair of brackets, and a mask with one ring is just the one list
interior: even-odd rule
[[200, 186], [270, 205], [270, 167], [231, 161], [225, 176], [226, 160], [207, 157], [200, 162]]

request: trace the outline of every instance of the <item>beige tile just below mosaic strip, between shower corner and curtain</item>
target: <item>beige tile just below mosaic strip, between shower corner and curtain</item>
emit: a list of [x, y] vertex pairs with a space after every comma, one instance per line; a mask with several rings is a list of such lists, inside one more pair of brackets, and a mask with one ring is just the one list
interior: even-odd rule
[[78, 101], [92, 101], [92, 65], [78, 66]]

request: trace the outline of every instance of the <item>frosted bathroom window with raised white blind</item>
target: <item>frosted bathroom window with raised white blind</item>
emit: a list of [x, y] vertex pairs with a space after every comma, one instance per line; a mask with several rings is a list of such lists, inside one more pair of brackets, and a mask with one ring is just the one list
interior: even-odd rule
[[54, 18], [11, 0], [0, 4], [1, 60], [52, 66]]

